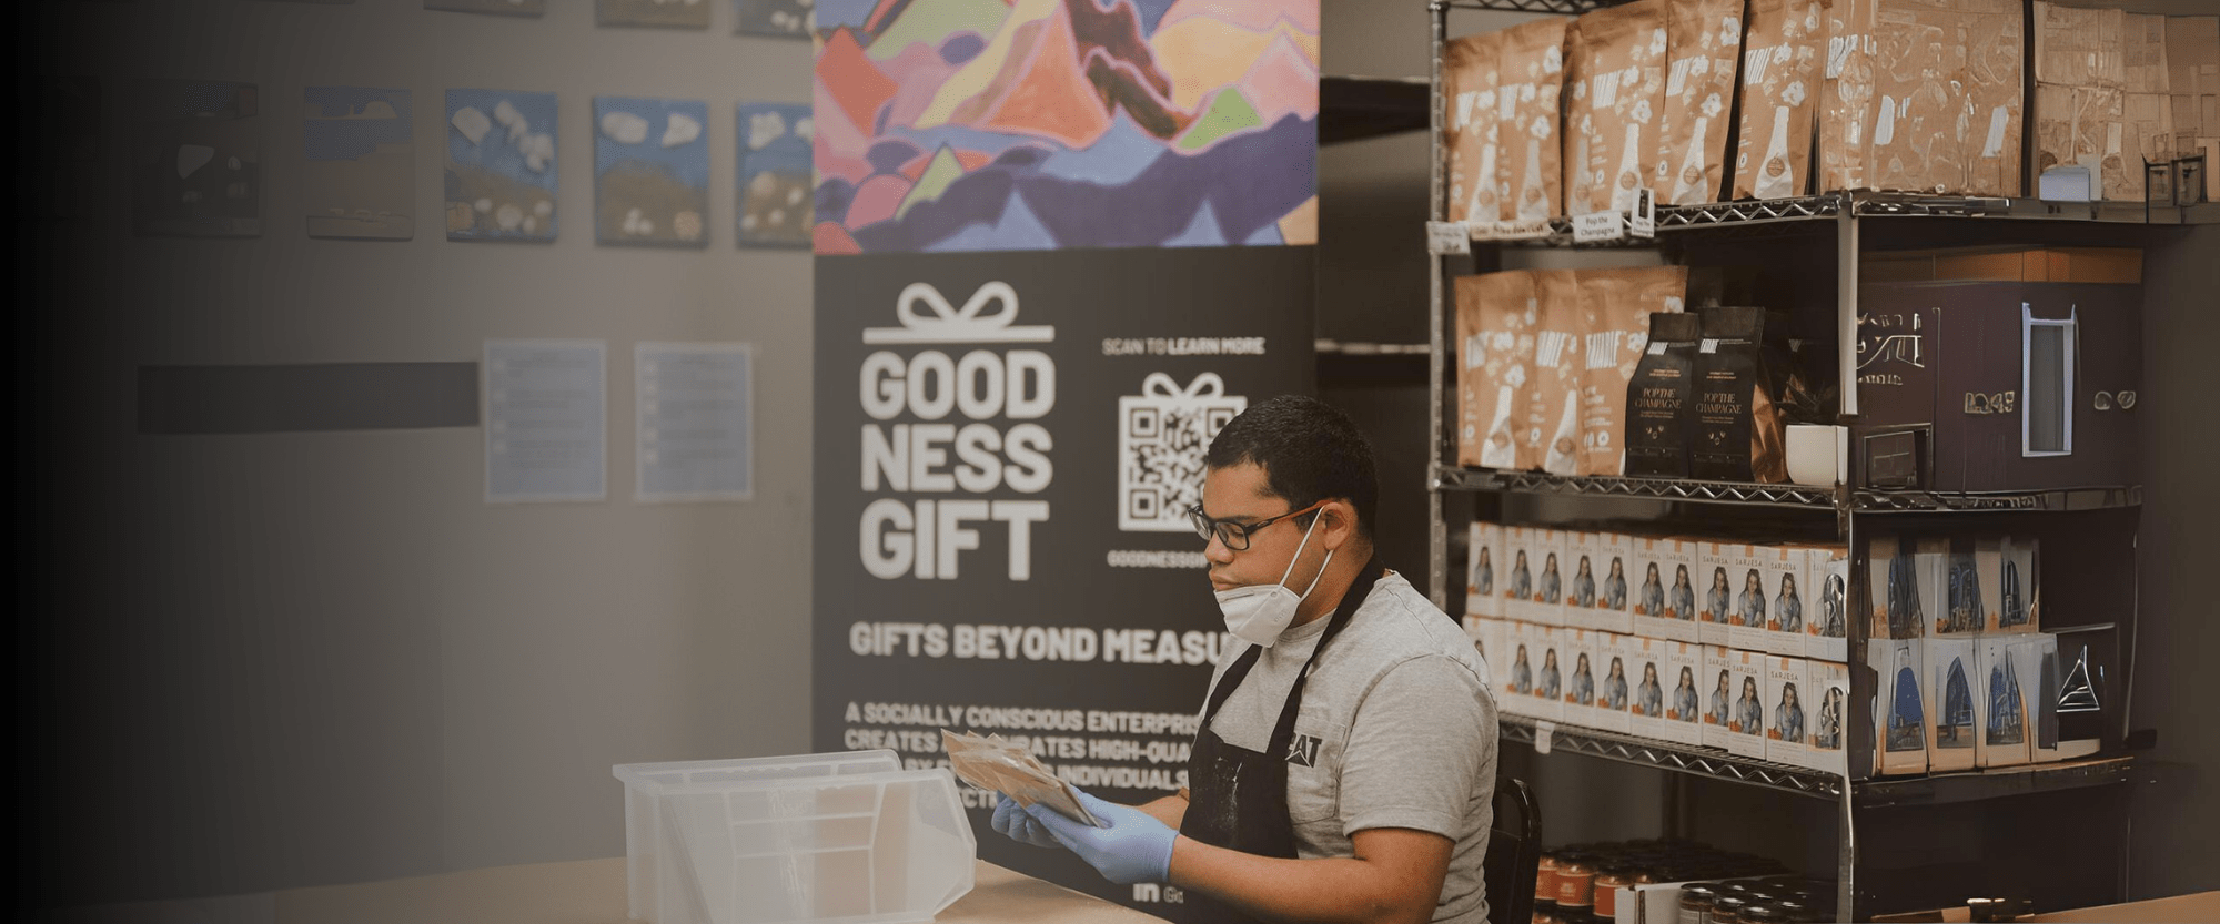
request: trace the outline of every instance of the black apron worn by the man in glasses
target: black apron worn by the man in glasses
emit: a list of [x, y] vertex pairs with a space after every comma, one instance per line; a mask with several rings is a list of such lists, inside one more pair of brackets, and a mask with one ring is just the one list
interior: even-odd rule
[[[1288, 746], [1294, 742], [1294, 715], [1303, 711], [1303, 682], [1319, 662], [1319, 653], [1350, 624], [1356, 606], [1372, 593], [1385, 569], [1379, 558], [1365, 562], [1356, 582], [1341, 595], [1341, 606], [1325, 622], [1325, 635], [1310, 649], [1310, 660], [1294, 675], [1288, 702], [1279, 709], [1279, 722], [1263, 753], [1225, 744], [1210, 731], [1210, 720], [1219, 715], [1225, 697], [1241, 686], [1263, 646], [1243, 651], [1219, 677], [1203, 704], [1203, 726], [1194, 731], [1194, 751], [1188, 757], [1188, 813], [1179, 822], [1179, 833], [1210, 846], [1254, 853], [1259, 857], [1294, 860], [1294, 822], [1288, 817]], [[1185, 893], [1185, 908], [1179, 920], [1194, 924], [1245, 924], [1252, 917], [1234, 906], [1201, 893]]]

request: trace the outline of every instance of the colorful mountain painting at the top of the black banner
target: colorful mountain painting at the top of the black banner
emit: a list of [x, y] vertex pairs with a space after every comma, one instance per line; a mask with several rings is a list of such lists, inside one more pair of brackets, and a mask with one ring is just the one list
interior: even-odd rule
[[1316, 242], [1319, 0], [819, 0], [817, 253]]

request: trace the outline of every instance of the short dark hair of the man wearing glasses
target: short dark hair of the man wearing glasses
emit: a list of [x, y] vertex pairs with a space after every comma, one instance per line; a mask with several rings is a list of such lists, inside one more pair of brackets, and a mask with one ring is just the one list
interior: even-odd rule
[[[1372, 444], [1341, 409], [1305, 395], [1279, 395], [1250, 404], [1210, 440], [1210, 469], [1243, 462], [1265, 471], [1265, 489], [1290, 509], [1325, 498], [1348, 498], [1356, 506], [1356, 533], [1372, 538], [1381, 484], [1372, 466]], [[1310, 529], [1310, 518], [1299, 518]]]

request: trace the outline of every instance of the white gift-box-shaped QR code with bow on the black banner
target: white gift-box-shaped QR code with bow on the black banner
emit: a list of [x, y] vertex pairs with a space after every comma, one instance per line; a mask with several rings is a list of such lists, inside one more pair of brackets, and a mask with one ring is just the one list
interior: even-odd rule
[[1179, 533], [1201, 502], [1203, 455], [1248, 400], [1228, 395], [1217, 373], [1185, 389], [1152, 373], [1139, 395], [1119, 398], [1119, 515], [1126, 533]]

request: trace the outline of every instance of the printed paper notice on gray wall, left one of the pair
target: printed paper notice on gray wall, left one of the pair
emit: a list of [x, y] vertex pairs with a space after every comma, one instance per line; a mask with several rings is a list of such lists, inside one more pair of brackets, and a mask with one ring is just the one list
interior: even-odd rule
[[602, 500], [608, 344], [486, 340], [486, 502]]

